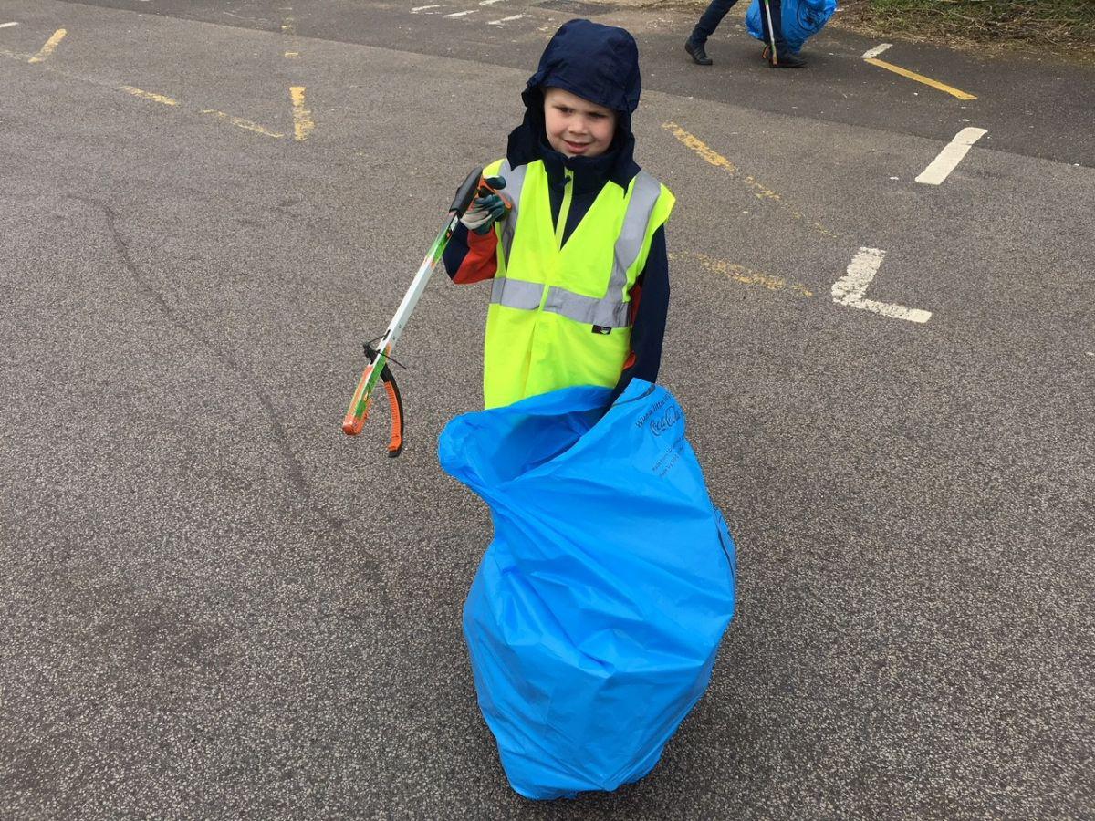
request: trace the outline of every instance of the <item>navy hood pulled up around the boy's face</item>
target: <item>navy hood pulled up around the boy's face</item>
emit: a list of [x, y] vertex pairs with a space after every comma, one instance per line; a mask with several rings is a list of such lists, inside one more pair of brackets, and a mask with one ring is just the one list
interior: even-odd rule
[[[521, 94], [525, 120], [509, 135], [510, 164], [543, 159], [550, 165], [562, 164], [584, 174], [592, 172], [626, 187], [638, 173], [632, 158], [635, 138], [631, 115], [638, 106], [641, 86], [638, 46], [631, 33], [589, 20], [564, 23], [548, 43], [540, 66]], [[545, 88], [568, 91], [616, 113], [616, 132], [604, 154], [567, 158], [549, 146], [543, 113]]]

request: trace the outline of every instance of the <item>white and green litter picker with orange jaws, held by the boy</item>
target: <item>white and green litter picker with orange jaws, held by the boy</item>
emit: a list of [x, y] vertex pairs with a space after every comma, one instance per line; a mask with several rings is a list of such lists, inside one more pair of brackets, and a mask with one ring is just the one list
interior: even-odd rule
[[[357, 436], [361, 432], [361, 427], [369, 416], [372, 392], [377, 388], [378, 382], [383, 382], [384, 391], [388, 394], [388, 402], [392, 410], [392, 429], [391, 440], [388, 443], [388, 455], [397, 456], [400, 451], [403, 450], [403, 400], [400, 396], [400, 389], [395, 384], [395, 377], [392, 374], [391, 368], [389, 368], [389, 361], [395, 362], [392, 359], [392, 349], [395, 347], [395, 343], [399, 342], [400, 335], [403, 333], [407, 320], [411, 319], [411, 313], [414, 311], [415, 305], [418, 304], [418, 298], [426, 290], [429, 277], [434, 273], [434, 268], [437, 267], [438, 262], [440, 262], [441, 254], [445, 253], [445, 248], [452, 238], [452, 232], [457, 230], [457, 223], [460, 221], [460, 218], [464, 216], [464, 212], [471, 207], [472, 200], [476, 196], [495, 193], [497, 192], [483, 180], [482, 169], [473, 171], [460, 184], [460, 188], [457, 189], [457, 196], [453, 197], [452, 205], [449, 206], [449, 216], [446, 219], [445, 228], [441, 229], [437, 239], [434, 240], [434, 244], [430, 245], [429, 251], [426, 253], [426, 258], [418, 266], [418, 273], [411, 280], [411, 287], [403, 294], [403, 301], [400, 302], [400, 307], [396, 309], [391, 323], [389, 323], [388, 329], [376, 339], [365, 343], [365, 355], [369, 358], [369, 361], [365, 366], [361, 379], [357, 383], [357, 390], [354, 391], [354, 398], [350, 400], [349, 407], [346, 409], [346, 417], [343, 419], [343, 432], [347, 436]], [[399, 365], [399, 362], [395, 363]]]

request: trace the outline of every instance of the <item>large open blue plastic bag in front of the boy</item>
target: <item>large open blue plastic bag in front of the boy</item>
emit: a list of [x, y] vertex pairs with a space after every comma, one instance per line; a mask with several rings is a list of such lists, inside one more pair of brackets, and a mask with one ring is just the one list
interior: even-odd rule
[[736, 558], [680, 405], [634, 380], [465, 414], [445, 470], [491, 506], [464, 638], [503, 767], [527, 798], [654, 768], [711, 678]]

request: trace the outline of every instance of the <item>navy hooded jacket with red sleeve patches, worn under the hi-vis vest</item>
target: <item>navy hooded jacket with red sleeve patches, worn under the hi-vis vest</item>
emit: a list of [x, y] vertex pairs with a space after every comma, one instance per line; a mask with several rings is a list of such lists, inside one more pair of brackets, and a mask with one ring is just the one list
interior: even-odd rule
[[[543, 91], [548, 88], [568, 91], [616, 113], [616, 131], [608, 151], [599, 157], [568, 158], [551, 147], [544, 128]], [[639, 91], [638, 47], [634, 37], [623, 28], [588, 20], [564, 23], [529, 78], [521, 94], [525, 119], [509, 135], [506, 159], [514, 167], [543, 160], [556, 223], [566, 184], [564, 170], [573, 172], [574, 190], [563, 228], [564, 244], [606, 183], [611, 181], [626, 188], [639, 171], [632, 155], [635, 137], [631, 131], [631, 115], [638, 105]], [[494, 231], [480, 235], [460, 224], [445, 251], [446, 270], [458, 284], [489, 279], [497, 270], [496, 250]], [[654, 234], [646, 266], [631, 291], [631, 304], [632, 355], [624, 363], [613, 400], [632, 378], [654, 382], [658, 375], [669, 309], [669, 261], [664, 228]]]

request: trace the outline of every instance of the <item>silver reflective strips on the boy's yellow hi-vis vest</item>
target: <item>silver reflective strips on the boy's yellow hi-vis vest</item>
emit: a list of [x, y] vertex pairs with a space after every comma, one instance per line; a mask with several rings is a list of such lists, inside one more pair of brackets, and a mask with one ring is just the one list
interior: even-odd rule
[[[517, 223], [517, 209], [521, 197], [521, 186], [525, 183], [527, 166], [510, 169], [509, 161], [503, 161], [498, 174], [506, 177], [504, 190], [514, 200], [514, 210], [506, 218], [502, 233], [502, 246], [506, 256], [507, 274], [509, 252], [514, 245], [514, 227]], [[512, 183], [510, 182], [512, 181]], [[544, 310], [566, 316], [568, 320], [584, 325], [601, 325], [602, 327], [627, 327], [629, 303], [624, 301], [624, 289], [627, 287], [627, 269], [634, 265], [643, 250], [646, 228], [650, 222], [654, 206], [661, 196], [661, 184], [645, 171], [638, 172], [632, 182], [632, 195], [627, 203], [627, 211], [623, 218], [620, 236], [613, 248], [612, 274], [609, 277], [608, 291], [603, 298], [586, 297], [565, 288], [551, 287]], [[495, 277], [491, 289], [491, 301], [497, 304], [534, 311], [540, 307], [543, 297], [543, 286], [539, 282], [526, 282], [508, 277]]]

